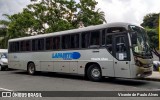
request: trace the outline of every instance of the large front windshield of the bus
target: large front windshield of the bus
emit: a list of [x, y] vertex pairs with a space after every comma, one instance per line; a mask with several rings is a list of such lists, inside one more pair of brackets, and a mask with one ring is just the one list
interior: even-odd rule
[[[151, 50], [149, 46], [149, 39], [144, 29], [131, 25], [130, 30], [136, 32], [137, 41], [132, 42], [133, 52], [140, 56], [151, 56]], [[132, 36], [132, 35], [131, 35]]]

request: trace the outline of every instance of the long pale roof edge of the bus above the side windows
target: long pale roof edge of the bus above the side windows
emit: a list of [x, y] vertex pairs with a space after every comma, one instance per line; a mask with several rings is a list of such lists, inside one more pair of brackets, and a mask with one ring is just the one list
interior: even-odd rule
[[98, 29], [103, 29], [107, 27], [125, 27], [126, 29], [128, 29], [128, 25], [131, 25], [131, 24], [124, 23], [124, 22], [115, 22], [115, 23], [101, 24], [101, 25], [95, 25], [95, 26], [88, 26], [88, 27], [72, 29], [72, 30], [53, 32], [53, 33], [48, 33], [48, 34], [40, 34], [40, 35], [35, 35], [35, 36], [15, 38], [15, 39], [10, 39], [9, 42], [36, 39], [36, 38], [44, 38], [44, 37], [49, 37], [49, 36], [65, 35], [68, 33], [70, 34], [80, 33], [80, 32], [85, 32], [85, 31], [91, 31], [93, 29], [98, 30]]

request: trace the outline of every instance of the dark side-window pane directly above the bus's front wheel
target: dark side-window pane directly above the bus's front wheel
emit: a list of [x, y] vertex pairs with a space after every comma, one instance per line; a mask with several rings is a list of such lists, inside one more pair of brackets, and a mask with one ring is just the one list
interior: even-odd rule
[[99, 48], [100, 45], [100, 31], [93, 31], [91, 32], [91, 38], [90, 38], [90, 48]]

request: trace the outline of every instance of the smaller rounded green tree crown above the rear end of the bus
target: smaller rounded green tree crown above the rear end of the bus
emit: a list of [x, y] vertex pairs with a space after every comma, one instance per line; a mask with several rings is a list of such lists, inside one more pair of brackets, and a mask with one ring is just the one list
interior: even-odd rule
[[36, 19], [32, 14], [24, 9], [22, 13], [11, 15], [11, 22], [8, 25], [9, 38], [23, 37], [32, 32]]

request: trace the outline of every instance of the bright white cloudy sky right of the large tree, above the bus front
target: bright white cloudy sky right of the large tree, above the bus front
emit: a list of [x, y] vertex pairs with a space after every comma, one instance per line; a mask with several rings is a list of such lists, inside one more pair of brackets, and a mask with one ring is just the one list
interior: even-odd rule
[[148, 13], [160, 12], [160, 0], [96, 0], [105, 12], [107, 22], [129, 22], [140, 25]]

